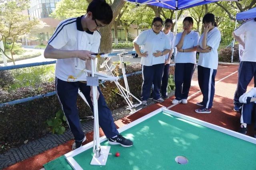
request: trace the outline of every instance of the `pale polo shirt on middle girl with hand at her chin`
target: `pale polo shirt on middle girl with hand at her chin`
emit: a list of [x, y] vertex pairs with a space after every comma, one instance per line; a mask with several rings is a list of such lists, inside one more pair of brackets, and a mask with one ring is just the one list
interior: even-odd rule
[[[174, 43], [175, 47], [180, 42], [181, 37], [182, 37], [182, 32], [177, 33], [175, 43]], [[182, 49], [189, 49], [189, 48], [196, 47], [198, 45], [199, 38], [200, 38], [199, 33], [191, 30], [190, 33], [188, 33], [184, 37]], [[196, 51], [188, 52], [188, 53], [182, 53], [177, 51], [175, 63], [196, 64]]]

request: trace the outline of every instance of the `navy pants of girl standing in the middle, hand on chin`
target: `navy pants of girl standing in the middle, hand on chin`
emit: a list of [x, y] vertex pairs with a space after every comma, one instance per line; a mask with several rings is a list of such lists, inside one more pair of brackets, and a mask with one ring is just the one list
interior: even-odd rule
[[196, 64], [193, 63], [175, 64], [174, 82], [176, 100], [188, 98], [188, 92], [191, 85], [191, 79], [194, 74], [195, 65]]

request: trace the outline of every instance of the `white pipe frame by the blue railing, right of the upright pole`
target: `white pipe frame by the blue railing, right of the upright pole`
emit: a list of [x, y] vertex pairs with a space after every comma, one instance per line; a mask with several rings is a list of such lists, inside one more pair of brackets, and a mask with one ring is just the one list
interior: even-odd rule
[[[129, 90], [129, 86], [128, 86], [128, 81], [127, 81], [127, 77], [126, 77], [126, 72], [125, 72], [125, 68], [124, 68], [124, 61], [123, 61], [123, 55], [125, 55], [126, 53], [119, 53], [117, 55], [119, 55], [120, 57], [120, 68], [122, 68], [122, 73], [123, 73], [123, 77], [124, 77], [124, 84], [125, 87], [121, 86], [121, 84], [118, 82], [118, 80], [115, 80], [114, 83], [116, 84], [116, 87], [118, 88], [118, 90], [120, 91], [120, 96], [122, 96], [124, 98], [124, 100], [126, 101], [126, 103], [128, 104], [128, 108], [130, 109], [130, 114], [135, 113], [136, 111], [139, 111], [140, 109], [136, 109], [136, 107], [140, 106], [142, 104], [142, 102], [136, 98], [133, 94], [130, 93]], [[108, 61], [110, 61], [110, 58], [107, 58], [101, 65], [100, 68], [106, 68], [107, 70], [107, 75], [108, 76], [114, 76], [114, 69], [116, 68], [116, 65], [113, 66], [113, 64], [111, 64], [109, 66]], [[139, 102], [139, 104], [134, 104], [132, 102], [132, 98], [134, 98], [135, 100], [137, 100]]]

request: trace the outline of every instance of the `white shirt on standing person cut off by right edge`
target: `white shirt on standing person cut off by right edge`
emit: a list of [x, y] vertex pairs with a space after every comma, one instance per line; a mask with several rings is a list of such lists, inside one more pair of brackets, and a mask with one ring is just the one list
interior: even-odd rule
[[256, 62], [256, 21], [249, 20], [244, 22], [234, 31], [236, 36], [244, 34], [244, 53], [241, 61]]

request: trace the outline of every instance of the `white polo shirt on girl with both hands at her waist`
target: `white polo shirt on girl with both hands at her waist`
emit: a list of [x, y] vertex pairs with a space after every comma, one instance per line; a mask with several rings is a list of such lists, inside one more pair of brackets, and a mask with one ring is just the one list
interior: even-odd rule
[[164, 63], [164, 56], [154, 57], [153, 53], [156, 51], [164, 51], [164, 49], [171, 49], [168, 37], [162, 33], [162, 31], [156, 34], [152, 29], [142, 31], [142, 33], [140, 33], [133, 42], [138, 45], [142, 45], [143, 51], [148, 52], [148, 57], [141, 57], [140, 64], [144, 66]]

